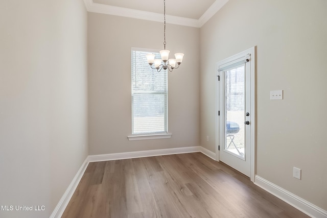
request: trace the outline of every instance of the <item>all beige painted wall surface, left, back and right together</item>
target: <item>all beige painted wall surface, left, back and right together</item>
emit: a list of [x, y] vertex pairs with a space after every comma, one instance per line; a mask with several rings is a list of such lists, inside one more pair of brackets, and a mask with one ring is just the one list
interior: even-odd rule
[[[49, 216], [87, 154], [215, 151], [215, 64], [254, 45], [256, 174], [326, 210], [326, 11], [324, 0], [229, 0], [201, 29], [168, 24], [167, 49], [185, 53], [169, 74], [173, 136], [128, 141], [130, 49], [162, 49], [163, 23], [87, 20], [79, 0], [1, 1], [0, 205], [46, 209], [0, 216]], [[283, 101], [269, 100], [276, 89]]]

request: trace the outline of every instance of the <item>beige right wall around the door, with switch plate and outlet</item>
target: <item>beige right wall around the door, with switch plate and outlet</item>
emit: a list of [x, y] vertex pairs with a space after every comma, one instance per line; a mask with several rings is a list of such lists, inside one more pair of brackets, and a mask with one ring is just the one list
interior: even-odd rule
[[[200, 31], [201, 146], [215, 151], [216, 62], [256, 45], [256, 174], [324, 210], [326, 11], [325, 0], [229, 0]], [[270, 101], [279, 89], [284, 100]]]

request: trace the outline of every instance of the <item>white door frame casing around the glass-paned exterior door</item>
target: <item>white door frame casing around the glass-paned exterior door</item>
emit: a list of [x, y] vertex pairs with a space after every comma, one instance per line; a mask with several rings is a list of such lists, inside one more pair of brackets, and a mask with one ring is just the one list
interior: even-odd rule
[[243, 52], [240, 52], [236, 55], [233, 55], [227, 59], [224, 59], [222, 61], [219, 61], [217, 62], [216, 64], [216, 160], [219, 161], [219, 150], [218, 150], [218, 146], [219, 146], [219, 131], [220, 131], [220, 127], [219, 127], [219, 110], [220, 110], [220, 99], [219, 99], [219, 81], [218, 81], [218, 78], [219, 78], [219, 71], [218, 69], [221, 68], [220, 66], [222, 65], [226, 65], [232, 61], [235, 61], [237, 59], [240, 59], [242, 57], [244, 57], [244, 55], [247, 55], [249, 54], [250, 55], [250, 67], [251, 67], [251, 72], [250, 72], [250, 99], [251, 99], [251, 105], [250, 105], [250, 128], [251, 128], [251, 134], [250, 134], [250, 156], [251, 156], [251, 159], [250, 159], [250, 179], [252, 182], [254, 182], [254, 176], [255, 176], [255, 133], [256, 133], [256, 129], [255, 129], [255, 117], [256, 117], [256, 114], [255, 114], [255, 105], [256, 105], [256, 102], [255, 102], [255, 47], [251, 47], [250, 49], [248, 50], [245, 50]]

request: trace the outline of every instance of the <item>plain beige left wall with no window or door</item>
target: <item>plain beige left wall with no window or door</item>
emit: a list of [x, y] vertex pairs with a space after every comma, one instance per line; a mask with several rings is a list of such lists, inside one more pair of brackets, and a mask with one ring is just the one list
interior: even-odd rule
[[0, 217], [49, 217], [85, 160], [83, 1], [0, 1]]

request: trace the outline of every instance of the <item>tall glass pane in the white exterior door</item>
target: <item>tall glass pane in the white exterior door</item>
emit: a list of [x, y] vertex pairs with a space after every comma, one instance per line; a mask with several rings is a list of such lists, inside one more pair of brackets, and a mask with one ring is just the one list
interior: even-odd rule
[[245, 114], [244, 65], [225, 71], [225, 145], [228, 152], [244, 159]]

